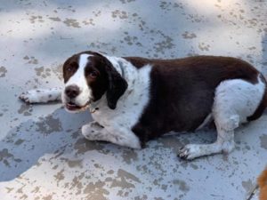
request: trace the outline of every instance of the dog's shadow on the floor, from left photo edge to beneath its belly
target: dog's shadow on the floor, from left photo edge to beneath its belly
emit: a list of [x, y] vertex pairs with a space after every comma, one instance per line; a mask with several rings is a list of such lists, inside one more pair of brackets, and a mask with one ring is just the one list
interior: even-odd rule
[[175, 133], [152, 140], [147, 148], [139, 151], [85, 140], [80, 128], [92, 120], [89, 112], [74, 115], [67, 113], [64, 108], [58, 108], [49, 116], [28, 120], [12, 128], [6, 137], [0, 140], [0, 181], [15, 179], [38, 164], [38, 160], [45, 154], [57, 156], [72, 152], [77, 157], [80, 153], [96, 150], [124, 156], [125, 164], [129, 164], [133, 154], [142, 156], [156, 151], [162, 153], [164, 148], [166, 154], [173, 152], [175, 157], [179, 148], [187, 143], [211, 143], [216, 138], [215, 131]]

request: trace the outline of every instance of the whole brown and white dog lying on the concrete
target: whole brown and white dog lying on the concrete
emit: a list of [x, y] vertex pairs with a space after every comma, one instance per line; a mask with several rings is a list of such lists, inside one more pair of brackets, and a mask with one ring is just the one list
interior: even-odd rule
[[89, 108], [82, 127], [88, 140], [142, 148], [166, 132], [191, 132], [214, 120], [217, 140], [188, 144], [179, 156], [193, 159], [235, 146], [239, 124], [267, 107], [263, 75], [243, 60], [196, 56], [176, 60], [111, 57], [80, 52], [63, 65], [65, 88], [22, 93], [28, 103], [62, 100], [70, 112]]

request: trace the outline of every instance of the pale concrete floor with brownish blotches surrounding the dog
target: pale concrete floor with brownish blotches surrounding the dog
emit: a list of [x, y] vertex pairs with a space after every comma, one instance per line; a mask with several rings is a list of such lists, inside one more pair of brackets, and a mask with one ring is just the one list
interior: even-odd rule
[[[85, 140], [89, 113], [28, 106], [20, 92], [62, 85], [75, 52], [174, 58], [230, 55], [267, 75], [264, 0], [1, 0], [1, 199], [246, 199], [267, 163], [267, 115], [239, 128], [231, 155], [182, 161], [214, 131], [166, 136], [132, 150]], [[253, 197], [256, 199], [256, 196]]]

